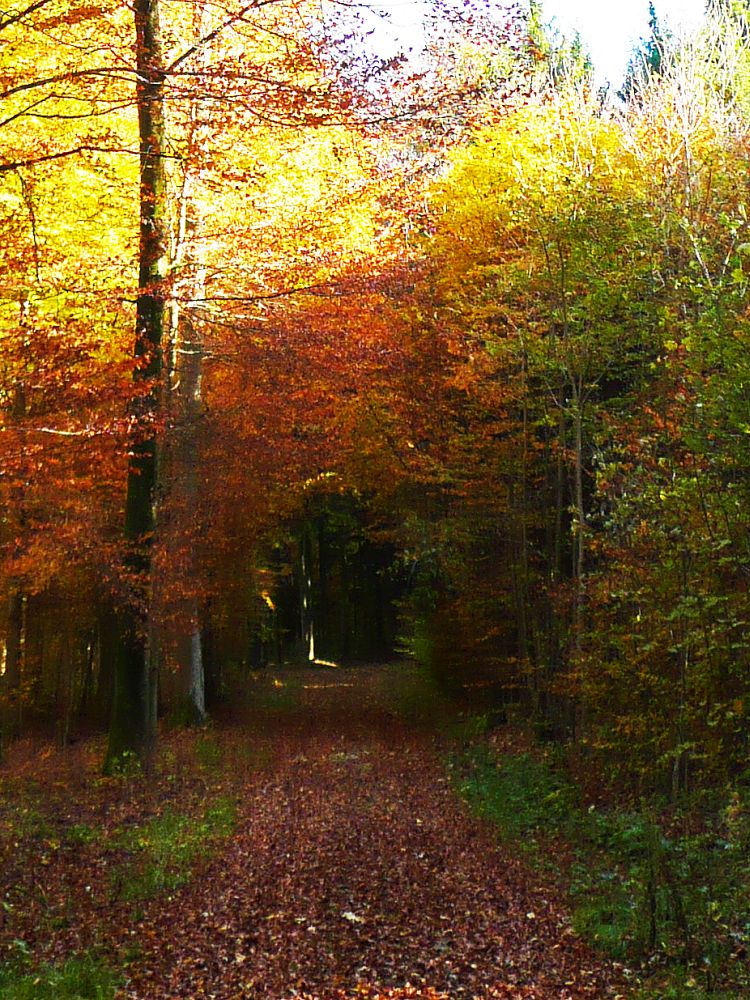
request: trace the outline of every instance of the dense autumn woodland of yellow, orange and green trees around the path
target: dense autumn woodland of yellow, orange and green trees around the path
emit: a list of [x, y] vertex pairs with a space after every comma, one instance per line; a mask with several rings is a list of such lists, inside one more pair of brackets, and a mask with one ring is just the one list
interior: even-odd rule
[[[371, 25], [0, 14], [2, 746], [148, 770], [258, 670], [407, 656], [737, 860], [747, 5], [652, 7], [618, 92], [537, 3], [440, 5], [419, 58]], [[700, 964], [660, 865], [648, 943]]]

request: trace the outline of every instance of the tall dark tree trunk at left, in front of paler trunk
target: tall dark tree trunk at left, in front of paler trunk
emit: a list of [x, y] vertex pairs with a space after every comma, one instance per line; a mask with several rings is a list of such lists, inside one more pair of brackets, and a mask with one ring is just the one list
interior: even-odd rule
[[167, 264], [164, 63], [159, 0], [135, 0], [134, 12], [141, 167], [134, 377], [147, 388], [136, 399], [125, 502], [125, 569], [129, 579], [139, 581], [139, 598], [121, 612], [106, 770], [128, 755], [147, 767], [156, 740], [156, 665], [149, 655], [148, 619]]

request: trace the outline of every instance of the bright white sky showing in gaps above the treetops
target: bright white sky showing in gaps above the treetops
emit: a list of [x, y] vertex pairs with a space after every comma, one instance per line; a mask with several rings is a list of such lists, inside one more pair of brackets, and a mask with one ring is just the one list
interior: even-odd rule
[[[543, 0], [545, 18], [554, 21], [565, 34], [578, 31], [590, 52], [599, 83], [609, 80], [619, 85], [633, 46], [648, 34], [649, 0]], [[391, 26], [380, 25], [378, 38], [383, 48], [389, 39], [419, 50], [422, 46], [422, 0], [380, 0], [377, 6], [388, 11]], [[660, 20], [675, 32], [695, 28], [705, 9], [705, 0], [656, 0]]]

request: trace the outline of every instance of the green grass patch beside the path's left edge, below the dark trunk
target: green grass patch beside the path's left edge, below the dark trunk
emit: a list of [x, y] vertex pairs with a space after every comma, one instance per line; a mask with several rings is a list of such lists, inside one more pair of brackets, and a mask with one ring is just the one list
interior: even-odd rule
[[200, 819], [168, 810], [123, 831], [115, 846], [130, 857], [112, 872], [114, 898], [140, 902], [185, 885], [196, 861], [231, 834], [235, 813], [231, 799], [219, 799]]

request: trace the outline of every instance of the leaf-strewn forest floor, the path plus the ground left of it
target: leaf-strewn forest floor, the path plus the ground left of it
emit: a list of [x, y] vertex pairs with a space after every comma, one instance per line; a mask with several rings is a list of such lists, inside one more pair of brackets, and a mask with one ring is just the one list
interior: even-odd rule
[[100, 777], [101, 741], [18, 744], [0, 963], [101, 956], [132, 1000], [624, 996], [460, 801], [407, 674], [265, 672], [220, 724], [165, 733], [148, 777]]

